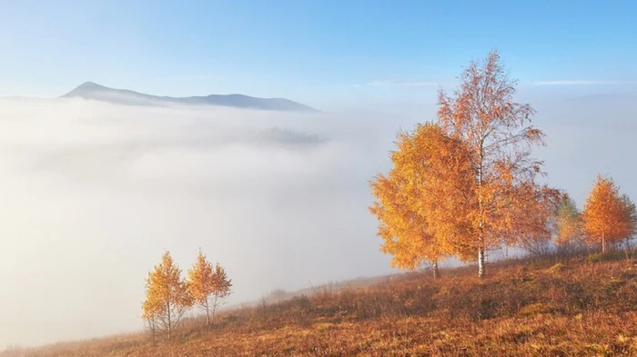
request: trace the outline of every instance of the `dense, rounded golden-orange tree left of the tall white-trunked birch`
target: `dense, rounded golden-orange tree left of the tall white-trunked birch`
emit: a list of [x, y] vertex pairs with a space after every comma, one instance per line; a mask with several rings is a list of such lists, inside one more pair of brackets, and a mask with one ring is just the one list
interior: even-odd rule
[[391, 254], [392, 266], [400, 269], [431, 263], [437, 278], [440, 260], [467, 256], [466, 247], [450, 239], [461, 235], [462, 229], [454, 224], [449, 208], [457, 205], [454, 198], [465, 198], [445, 199], [445, 195], [473, 183], [470, 167], [462, 158], [462, 144], [446, 136], [437, 124], [418, 124], [412, 133], [400, 132], [396, 145], [391, 152], [392, 170], [371, 182], [376, 201], [369, 211], [379, 220], [381, 252]]

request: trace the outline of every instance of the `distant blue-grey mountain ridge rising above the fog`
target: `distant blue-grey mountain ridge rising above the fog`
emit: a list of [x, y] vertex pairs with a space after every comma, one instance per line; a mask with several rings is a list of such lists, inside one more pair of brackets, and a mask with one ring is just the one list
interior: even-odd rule
[[127, 89], [114, 89], [93, 82], [81, 84], [63, 98], [85, 98], [114, 104], [162, 105], [193, 104], [222, 105], [244, 109], [274, 110], [286, 112], [319, 112], [308, 105], [282, 98], [257, 98], [243, 94], [210, 94], [207, 96], [159, 96], [143, 94]]

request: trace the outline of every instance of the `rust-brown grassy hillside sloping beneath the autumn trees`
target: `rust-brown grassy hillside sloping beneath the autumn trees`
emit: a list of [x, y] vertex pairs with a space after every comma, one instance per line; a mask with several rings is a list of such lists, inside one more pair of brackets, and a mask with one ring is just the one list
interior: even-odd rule
[[[173, 342], [145, 334], [63, 343], [11, 356], [632, 356], [637, 260], [550, 257], [407, 273], [317, 289], [185, 322]], [[5, 357], [5, 355], [2, 355]]]

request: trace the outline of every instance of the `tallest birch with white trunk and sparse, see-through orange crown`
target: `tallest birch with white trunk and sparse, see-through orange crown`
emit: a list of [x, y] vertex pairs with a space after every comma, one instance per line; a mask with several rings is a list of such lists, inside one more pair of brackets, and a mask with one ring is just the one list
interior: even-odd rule
[[[535, 182], [542, 163], [531, 155], [533, 145], [543, 144], [544, 134], [531, 125], [531, 105], [515, 102], [515, 93], [516, 81], [496, 51], [464, 70], [453, 95], [439, 93], [438, 123], [469, 151], [475, 178], [472, 201], [456, 210], [463, 213], [469, 231], [463, 237], [470, 236], [467, 243], [477, 253], [480, 277], [487, 249], [535, 234], [548, 219], [547, 211], [538, 207], [546, 188]], [[525, 211], [538, 216], [530, 220]]]

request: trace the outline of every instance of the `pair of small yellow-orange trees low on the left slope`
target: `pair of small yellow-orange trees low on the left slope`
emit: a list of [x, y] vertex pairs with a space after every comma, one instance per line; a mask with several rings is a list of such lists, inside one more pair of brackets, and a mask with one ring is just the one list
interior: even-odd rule
[[148, 273], [142, 318], [153, 341], [159, 333], [170, 340], [184, 314], [195, 306], [206, 312], [208, 325], [214, 323], [217, 309], [232, 293], [232, 280], [228, 279], [226, 270], [219, 263], [208, 262], [201, 250], [187, 277], [181, 273], [168, 252]]

